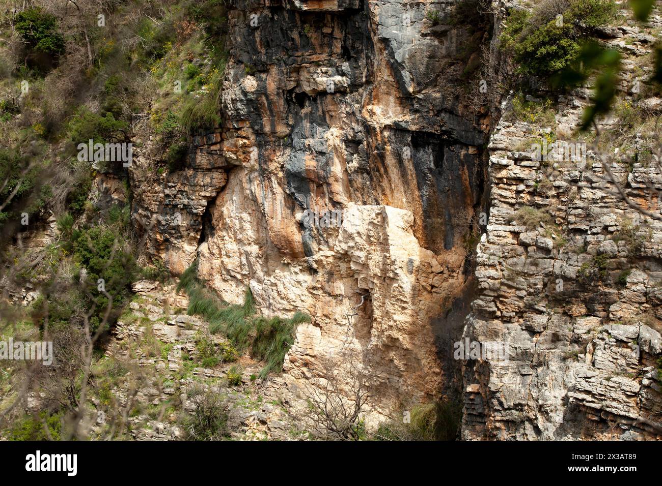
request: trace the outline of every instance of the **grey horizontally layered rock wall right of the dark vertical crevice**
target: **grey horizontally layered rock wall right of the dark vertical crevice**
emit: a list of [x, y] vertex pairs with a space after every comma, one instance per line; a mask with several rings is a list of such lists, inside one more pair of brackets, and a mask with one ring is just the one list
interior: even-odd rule
[[[634, 65], [646, 52], [644, 34], [624, 27], [608, 42]], [[622, 88], [639, 78], [630, 71]], [[557, 147], [582, 145], [573, 130], [588, 94], [560, 99], [551, 128]], [[491, 211], [464, 335], [505, 343], [508, 356], [465, 363], [462, 436], [659, 439], [662, 225], [615, 194], [590, 148], [586, 157], [536, 157], [541, 134], [535, 124], [502, 119], [489, 143]], [[660, 187], [645, 164], [614, 162], [610, 170], [641, 204], [642, 181]], [[522, 208], [534, 219], [528, 227], [518, 222]]]

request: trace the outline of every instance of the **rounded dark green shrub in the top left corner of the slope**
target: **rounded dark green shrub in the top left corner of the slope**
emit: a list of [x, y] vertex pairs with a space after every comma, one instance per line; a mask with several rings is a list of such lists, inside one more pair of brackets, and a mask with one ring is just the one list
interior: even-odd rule
[[51, 56], [64, 54], [64, 36], [53, 15], [39, 8], [26, 9], [16, 16], [14, 27], [28, 48]]

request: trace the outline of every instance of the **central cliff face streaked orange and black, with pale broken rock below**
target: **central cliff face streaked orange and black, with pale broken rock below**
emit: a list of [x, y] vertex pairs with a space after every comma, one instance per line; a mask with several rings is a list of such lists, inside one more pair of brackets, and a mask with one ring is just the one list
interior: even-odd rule
[[489, 128], [461, 85], [477, 55], [464, 46], [489, 21], [426, 19], [452, 7], [238, 1], [222, 126], [193, 138], [184, 171], [140, 184], [136, 163], [138, 214], [166, 215], [150, 244], [171, 270], [197, 258], [228, 302], [249, 287], [267, 315], [311, 316], [286, 356], [293, 378], [350, 346], [379, 374], [377, 403], [449, 382], [436, 335], [471, 288]]

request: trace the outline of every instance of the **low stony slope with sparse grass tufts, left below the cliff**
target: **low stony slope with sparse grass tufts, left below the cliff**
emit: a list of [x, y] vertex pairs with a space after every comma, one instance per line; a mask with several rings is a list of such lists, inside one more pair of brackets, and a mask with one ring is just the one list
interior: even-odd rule
[[[186, 296], [174, 285], [152, 280], [134, 284], [136, 298], [117, 323], [107, 359], [131, 371], [136, 384], [117, 384], [115, 406], [131, 410], [130, 436], [137, 440], [191, 438], [189, 417], [197, 412], [197, 396], [216, 393], [227, 413], [228, 438], [233, 440], [301, 440], [301, 410], [308, 407], [282, 378], [256, 378], [261, 365], [243, 356], [238, 362], [199, 364], [201, 341], [230, 346], [209, 334], [207, 323], [187, 315]], [[136, 370], [138, 368], [138, 370]], [[240, 379], [227, 380], [230, 370]], [[108, 403], [94, 404], [99, 410]], [[176, 405], [176, 406], [175, 406]], [[187, 424], [189, 424], [187, 426]], [[97, 423], [97, 426], [98, 423]]]

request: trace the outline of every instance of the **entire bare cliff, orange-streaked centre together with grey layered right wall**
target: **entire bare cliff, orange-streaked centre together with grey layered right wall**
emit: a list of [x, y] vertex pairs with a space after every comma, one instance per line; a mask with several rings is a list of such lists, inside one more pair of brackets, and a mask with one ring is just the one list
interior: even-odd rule
[[[504, 6], [469, 19], [453, 1], [236, 1], [222, 126], [192, 138], [181, 171], [155, 176], [138, 157], [134, 213], [161, 215], [150, 253], [175, 274], [197, 260], [228, 302], [250, 288], [265, 315], [311, 316], [283, 386], [316, 383], [349, 346], [383, 415], [459, 380], [465, 439], [659, 438], [662, 227], [599, 164], [532, 155], [541, 134], [573, 142], [587, 93], [559, 100], [545, 130], [501, 118], [512, 96], [477, 101]], [[632, 63], [647, 52], [638, 28], [604, 34]], [[612, 168], [638, 200], [646, 170]], [[518, 222], [522, 208], [549, 218]], [[455, 375], [462, 332], [508, 358]]]

